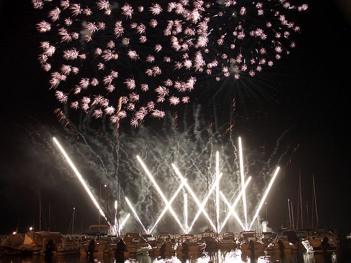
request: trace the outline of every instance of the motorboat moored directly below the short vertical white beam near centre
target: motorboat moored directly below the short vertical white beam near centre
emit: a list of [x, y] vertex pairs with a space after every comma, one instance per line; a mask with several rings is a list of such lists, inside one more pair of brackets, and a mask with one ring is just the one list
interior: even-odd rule
[[205, 252], [206, 243], [199, 241], [196, 234], [181, 234], [175, 252], [177, 256], [198, 256]]

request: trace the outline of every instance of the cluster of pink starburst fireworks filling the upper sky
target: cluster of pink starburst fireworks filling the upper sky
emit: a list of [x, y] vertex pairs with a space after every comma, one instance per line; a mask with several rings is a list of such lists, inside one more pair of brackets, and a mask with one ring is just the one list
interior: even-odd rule
[[107, 115], [164, 117], [164, 104], [188, 103], [208, 81], [240, 80], [295, 47], [299, 27], [288, 17], [306, 10], [284, 0], [91, 1], [32, 0], [47, 15], [39, 56], [61, 103]]

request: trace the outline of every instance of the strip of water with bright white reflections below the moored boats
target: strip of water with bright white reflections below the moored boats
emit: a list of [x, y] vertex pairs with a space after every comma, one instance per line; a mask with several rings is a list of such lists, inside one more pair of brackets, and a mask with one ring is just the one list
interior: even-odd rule
[[[138, 255], [135, 258], [126, 259], [125, 263], [343, 263], [338, 261], [336, 253], [329, 253], [324, 256], [322, 253], [313, 252], [286, 252], [280, 253], [262, 253], [262, 254], [245, 254], [240, 250], [235, 251], [216, 251], [204, 254], [199, 258], [160, 258], [149, 255]], [[43, 263], [43, 255], [33, 255], [28, 257], [5, 256], [0, 255], [0, 263]], [[88, 257], [84, 255], [54, 255], [52, 263], [87, 263]], [[94, 255], [95, 263], [115, 263], [112, 255]]]

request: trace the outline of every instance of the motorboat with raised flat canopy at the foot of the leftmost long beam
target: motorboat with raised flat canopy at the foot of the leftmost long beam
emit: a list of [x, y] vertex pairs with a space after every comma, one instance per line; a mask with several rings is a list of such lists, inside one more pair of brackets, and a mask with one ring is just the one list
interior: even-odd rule
[[[95, 231], [93, 231], [95, 230]], [[88, 254], [89, 243], [94, 239], [94, 251], [98, 255], [103, 254], [114, 254], [114, 250], [117, 247], [117, 240], [115, 236], [109, 234], [109, 225], [104, 224], [93, 224], [89, 226], [89, 234], [86, 236], [86, 240], [81, 243], [80, 253]]]

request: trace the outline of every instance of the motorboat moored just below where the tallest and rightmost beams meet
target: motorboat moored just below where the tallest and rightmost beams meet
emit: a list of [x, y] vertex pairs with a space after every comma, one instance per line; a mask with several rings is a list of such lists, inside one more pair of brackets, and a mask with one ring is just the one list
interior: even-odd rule
[[264, 244], [256, 237], [256, 231], [241, 231], [239, 234], [239, 247], [243, 253], [263, 253]]

